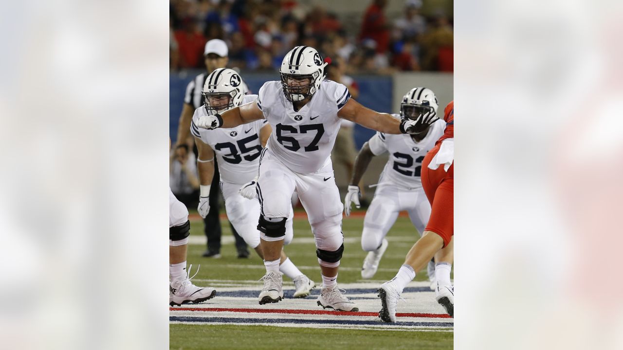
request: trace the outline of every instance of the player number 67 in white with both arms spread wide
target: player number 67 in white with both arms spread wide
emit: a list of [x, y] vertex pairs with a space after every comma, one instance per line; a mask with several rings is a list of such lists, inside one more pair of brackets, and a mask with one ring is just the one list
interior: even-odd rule
[[340, 118], [389, 134], [417, 133], [423, 125], [422, 120], [399, 121], [387, 113], [359, 105], [350, 98], [344, 85], [323, 80], [325, 66], [315, 49], [297, 46], [283, 58], [281, 81], [264, 83], [255, 103], [232, 108], [222, 116], [202, 116], [193, 122], [199, 128], [216, 129], [265, 119], [272, 126], [267, 148], [260, 158], [257, 183], [262, 206], [258, 227], [262, 232], [260, 242], [266, 267], [259, 299], [278, 301], [283, 296], [279, 254], [286, 219], [292, 212], [290, 197], [297, 191], [316, 242], [323, 280], [318, 305], [358, 311], [358, 306], [337, 286], [338, 266], [344, 251], [343, 205], [330, 154], [340, 129]]

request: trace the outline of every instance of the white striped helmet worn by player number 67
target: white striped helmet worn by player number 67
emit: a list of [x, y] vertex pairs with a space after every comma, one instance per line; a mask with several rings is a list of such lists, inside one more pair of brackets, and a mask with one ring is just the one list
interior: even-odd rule
[[[325, 79], [324, 69], [326, 65], [326, 62], [323, 62], [322, 57], [313, 47], [297, 46], [290, 50], [283, 57], [279, 69], [285, 98], [288, 101], [302, 101], [316, 93], [320, 88], [320, 82]], [[305, 85], [288, 85], [288, 78], [300, 80], [307, 77], [310, 78], [310, 82]]]

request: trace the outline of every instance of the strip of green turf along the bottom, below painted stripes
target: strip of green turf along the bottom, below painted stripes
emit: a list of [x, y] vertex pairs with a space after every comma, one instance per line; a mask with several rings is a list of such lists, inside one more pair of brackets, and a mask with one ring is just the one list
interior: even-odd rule
[[171, 349], [452, 349], [452, 332], [171, 324]]

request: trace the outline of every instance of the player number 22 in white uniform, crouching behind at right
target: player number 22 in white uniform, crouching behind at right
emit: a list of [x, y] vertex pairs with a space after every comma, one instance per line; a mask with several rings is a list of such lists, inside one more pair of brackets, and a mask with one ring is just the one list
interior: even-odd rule
[[[395, 118], [417, 118], [427, 111], [437, 111], [437, 97], [429, 88], [412, 88], [402, 97], [400, 114]], [[383, 253], [388, 247], [385, 239], [399, 212], [406, 210], [417, 231], [424, 232], [430, 217], [430, 204], [422, 188], [420, 172], [422, 159], [435, 146], [444, 133], [445, 123], [437, 120], [419, 135], [385, 135], [376, 133], [364, 143], [355, 160], [353, 178], [344, 200], [346, 216], [350, 215], [351, 202], [359, 207], [359, 181], [374, 156], [389, 153], [379, 179], [361, 234], [361, 248], [368, 253], [363, 261], [361, 277], [369, 279], [379, 267]], [[435, 263], [430, 262], [428, 274], [434, 284]], [[432, 288], [432, 287], [431, 287]]]

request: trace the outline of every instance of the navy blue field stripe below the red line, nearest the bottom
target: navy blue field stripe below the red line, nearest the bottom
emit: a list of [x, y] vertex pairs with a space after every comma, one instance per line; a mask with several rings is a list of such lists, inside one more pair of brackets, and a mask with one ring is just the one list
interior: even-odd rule
[[297, 323], [297, 324], [345, 324], [353, 326], [411, 326], [411, 327], [454, 327], [454, 322], [396, 322], [364, 321], [358, 319], [273, 319], [273, 318], [229, 318], [229, 317], [193, 317], [169, 316], [169, 322], [218, 322], [218, 323]]

